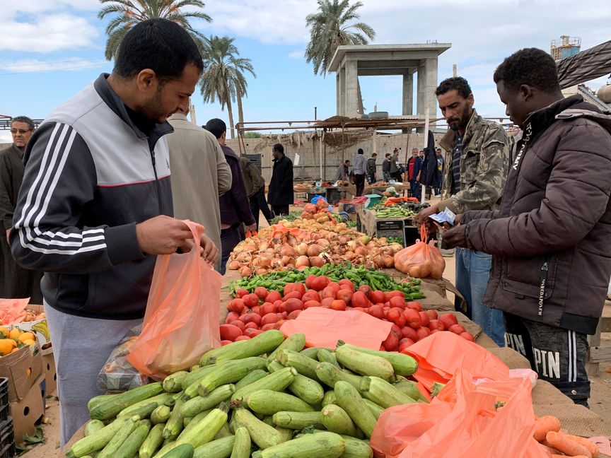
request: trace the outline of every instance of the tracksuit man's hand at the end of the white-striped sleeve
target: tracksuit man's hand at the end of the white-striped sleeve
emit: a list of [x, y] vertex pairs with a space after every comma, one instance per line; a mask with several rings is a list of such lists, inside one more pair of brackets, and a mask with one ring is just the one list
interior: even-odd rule
[[136, 224], [136, 237], [140, 249], [147, 254], [172, 254], [179, 248], [187, 253], [193, 247], [193, 234], [189, 227], [165, 215]]

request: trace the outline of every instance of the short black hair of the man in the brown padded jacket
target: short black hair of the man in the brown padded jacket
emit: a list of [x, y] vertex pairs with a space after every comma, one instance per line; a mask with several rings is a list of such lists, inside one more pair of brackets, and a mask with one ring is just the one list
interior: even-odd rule
[[527, 84], [545, 93], [560, 90], [554, 58], [538, 48], [524, 48], [511, 54], [494, 71], [494, 83], [517, 90]]

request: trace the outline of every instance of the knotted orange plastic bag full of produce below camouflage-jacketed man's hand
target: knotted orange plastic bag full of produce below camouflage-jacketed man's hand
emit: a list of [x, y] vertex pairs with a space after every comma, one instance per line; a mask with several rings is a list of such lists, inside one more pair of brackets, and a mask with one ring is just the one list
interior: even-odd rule
[[426, 243], [427, 236], [426, 226], [423, 224], [420, 226], [420, 240], [395, 254], [395, 269], [416, 278], [441, 279], [446, 269], [446, 260], [435, 246], [436, 240]]

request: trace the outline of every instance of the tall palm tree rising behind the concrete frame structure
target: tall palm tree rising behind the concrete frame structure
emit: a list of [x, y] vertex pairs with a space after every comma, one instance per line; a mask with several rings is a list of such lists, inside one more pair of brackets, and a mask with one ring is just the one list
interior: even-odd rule
[[[318, 12], [306, 16], [310, 28], [310, 42], [306, 47], [306, 61], [314, 65], [314, 74], [326, 75], [337, 47], [367, 45], [376, 32], [366, 23], [349, 23], [361, 16], [356, 10], [361, 1], [350, 5], [349, 0], [317, 0]], [[363, 112], [363, 98], [359, 78], [356, 78], [359, 110]]]

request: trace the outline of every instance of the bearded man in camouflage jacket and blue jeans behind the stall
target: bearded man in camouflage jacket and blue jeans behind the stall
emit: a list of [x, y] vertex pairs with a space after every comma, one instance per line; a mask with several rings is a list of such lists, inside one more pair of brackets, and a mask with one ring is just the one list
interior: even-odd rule
[[[448, 133], [440, 145], [448, 153], [446, 195], [437, 205], [419, 213], [426, 223], [433, 213], [450, 209], [499, 208], [509, 169], [511, 137], [500, 124], [488, 121], [473, 108], [473, 94], [465, 78], [448, 78], [436, 90]], [[499, 346], [504, 346], [503, 315], [482, 305], [490, 276], [491, 256], [472, 249], [456, 249], [456, 288], [467, 301], [467, 315]]]

